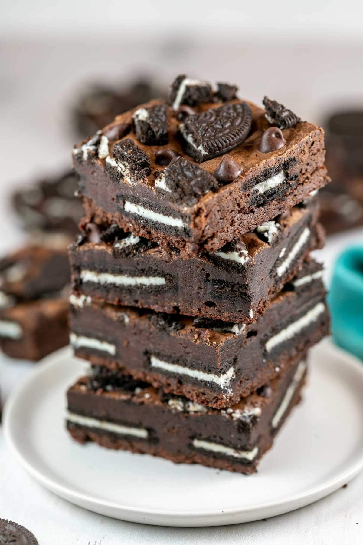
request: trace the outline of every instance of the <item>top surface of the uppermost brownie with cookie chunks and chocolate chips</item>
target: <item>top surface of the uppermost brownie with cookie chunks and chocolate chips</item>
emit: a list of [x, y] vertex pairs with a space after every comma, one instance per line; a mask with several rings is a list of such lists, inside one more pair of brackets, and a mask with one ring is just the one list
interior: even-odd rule
[[[187, 213], [189, 207], [200, 203], [200, 199], [224, 191], [232, 181], [241, 181], [243, 189], [249, 184], [253, 186], [252, 172], [256, 171], [256, 175], [267, 167], [273, 169], [276, 159], [279, 164], [284, 158], [291, 161], [292, 148], [302, 140], [311, 135], [323, 137], [321, 128], [301, 122], [286, 108], [290, 116], [281, 122], [285, 110], [276, 101], [267, 103], [265, 100], [269, 108], [269, 114], [266, 114], [263, 108], [235, 98], [234, 91], [230, 95], [213, 93], [205, 82], [199, 82], [199, 86], [189, 83], [188, 87], [188, 82], [196, 80], [184, 79], [187, 81], [184, 94], [180, 92], [178, 99], [172, 87], [171, 105], [162, 100], [147, 102], [116, 116], [112, 124], [94, 137], [77, 144], [73, 149], [76, 170], [85, 163], [98, 164], [114, 182], [147, 186], [158, 199], [183, 205]], [[183, 84], [178, 84], [180, 91]], [[221, 97], [232, 98], [222, 100]], [[273, 112], [274, 105], [280, 106], [280, 110], [275, 107], [277, 111]], [[259, 144], [264, 132], [272, 129], [268, 119], [280, 123], [282, 131], [276, 125], [274, 129], [283, 136], [273, 139], [267, 134], [264, 141], [272, 144], [265, 143], [261, 152]], [[276, 140], [279, 140], [278, 149]], [[125, 146], [128, 159], [124, 154], [120, 160], [120, 150], [126, 149]], [[168, 159], [158, 160], [161, 153], [163, 157], [169, 155], [170, 165]], [[218, 175], [226, 155], [236, 165], [234, 179], [233, 176], [228, 180]], [[137, 164], [140, 168], [136, 168]], [[190, 189], [188, 173], [198, 180], [197, 187], [192, 188], [194, 191]]]

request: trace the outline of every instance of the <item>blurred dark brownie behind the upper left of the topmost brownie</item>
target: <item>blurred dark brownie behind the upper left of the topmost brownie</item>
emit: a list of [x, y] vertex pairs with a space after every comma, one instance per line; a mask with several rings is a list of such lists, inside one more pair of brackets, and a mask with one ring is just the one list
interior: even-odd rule
[[87, 84], [85, 88], [73, 110], [76, 131], [82, 137], [102, 129], [118, 114], [166, 94], [147, 77], [117, 88], [104, 84]]

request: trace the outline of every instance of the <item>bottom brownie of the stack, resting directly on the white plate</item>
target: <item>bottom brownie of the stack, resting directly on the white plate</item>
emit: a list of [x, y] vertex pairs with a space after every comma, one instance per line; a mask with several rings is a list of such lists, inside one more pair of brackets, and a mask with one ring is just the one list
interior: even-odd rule
[[[175, 463], [251, 474], [300, 400], [306, 362], [227, 409], [213, 409], [113, 376], [97, 390], [87, 377], [67, 392], [67, 429], [79, 443], [131, 450]], [[283, 461], [282, 461], [283, 462]]]

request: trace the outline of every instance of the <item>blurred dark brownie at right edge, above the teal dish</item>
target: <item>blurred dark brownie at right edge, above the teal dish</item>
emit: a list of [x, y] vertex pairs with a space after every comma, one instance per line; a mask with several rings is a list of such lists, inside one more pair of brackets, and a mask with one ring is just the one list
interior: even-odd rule
[[331, 115], [325, 147], [332, 182], [319, 192], [321, 221], [332, 234], [363, 225], [363, 110]]

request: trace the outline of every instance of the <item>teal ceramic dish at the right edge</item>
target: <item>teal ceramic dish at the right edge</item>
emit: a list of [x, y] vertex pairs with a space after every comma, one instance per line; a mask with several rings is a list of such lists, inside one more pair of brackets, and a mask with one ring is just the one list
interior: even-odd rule
[[328, 301], [336, 343], [363, 360], [363, 246], [337, 259]]

